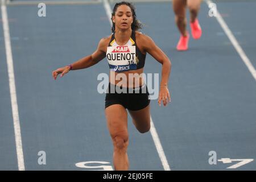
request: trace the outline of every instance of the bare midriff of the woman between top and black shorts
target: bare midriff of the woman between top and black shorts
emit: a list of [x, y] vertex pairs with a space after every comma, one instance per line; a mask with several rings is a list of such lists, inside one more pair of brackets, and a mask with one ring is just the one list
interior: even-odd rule
[[118, 86], [137, 88], [144, 84], [142, 73], [143, 68], [121, 73], [110, 71], [109, 82]]

